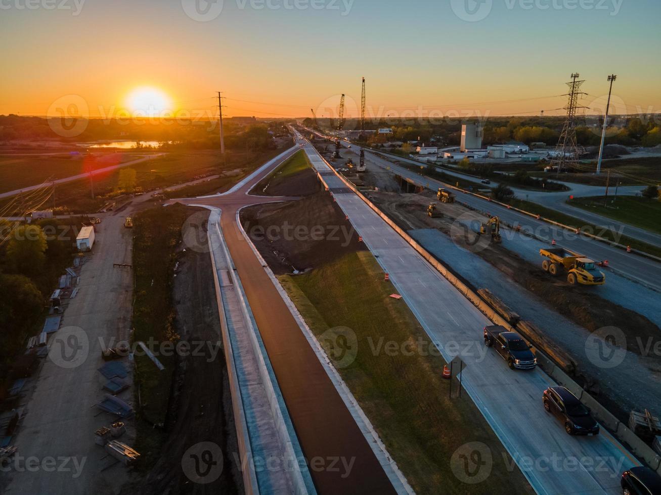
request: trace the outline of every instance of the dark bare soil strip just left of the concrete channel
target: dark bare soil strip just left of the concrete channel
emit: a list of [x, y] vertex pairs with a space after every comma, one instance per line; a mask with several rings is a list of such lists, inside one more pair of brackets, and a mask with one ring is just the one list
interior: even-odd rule
[[[178, 358], [166, 425], [168, 440], [161, 457], [134, 487], [144, 495], [243, 492], [233, 455], [238, 452], [236, 429], [213, 277], [209, 253], [193, 249], [180, 253], [174, 284], [175, 326], [181, 341], [190, 343], [190, 352]], [[221, 474], [208, 484], [192, 482], [190, 473], [182, 469], [184, 454], [200, 442], [212, 442], [223, 453]]]

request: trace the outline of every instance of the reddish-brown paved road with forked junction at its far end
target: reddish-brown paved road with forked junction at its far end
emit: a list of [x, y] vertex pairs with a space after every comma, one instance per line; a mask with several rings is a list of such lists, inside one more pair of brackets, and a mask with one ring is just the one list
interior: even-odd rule
[[[248, 193], [277, 166], [226, 195], [181, 199], [222, 209], [221, 228], [306, 459], [354, 460], [350, 473], [311, 469], [321, 494], [388, 494], [392, 484], [280, 293], [236, 223], [241, 208], [274, 201]], [[286, 198], [282, 198], [286, 199]], [[290, 198], [291, 199], [291, 198]], [[344, 477], [343, 477], [344, 476]]]

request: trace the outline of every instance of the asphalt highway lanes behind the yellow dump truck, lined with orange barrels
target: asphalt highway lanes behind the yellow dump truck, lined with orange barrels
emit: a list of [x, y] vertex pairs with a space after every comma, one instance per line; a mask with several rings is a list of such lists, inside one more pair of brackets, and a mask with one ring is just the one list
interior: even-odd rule
[[[366, 152], [366, 161], [368, 161], [368, 170], [369, 166], [379, 166], [383, 169], [389, 168], [393, 174], [399, 174], [424, 187], [429, 184], [428, 188], [433, 191], [436, 191], [438, 187], [447, 187], [446, 183], [422, 177], [415, 172], [384, 160], [371, 152]], [[585, 236], [578, 236], [574, 232], [570, 232], [564, 228], [557, 228], [543, 220], [537, 220], [532, 216], [519, 213], [518, 211], [508, 210], [506, 207], [496, 205], [496, 203], [490, 203], [485, 199], [462, 193], [461, 191], [454, 192], [457, 195], [457, 201], [467, 203], [472, 208], [487, 211], [491, 215], [498, 215], [501, 220], [504, 220], [508, 224], [520, 225], [526, 232], [533, 232], [539, 238], [547, 240], [549, 244], [555, 239], [559, 246], [578, 251], [596, 261], [607, 259], [611, 267], [619, 273], [623, 273], [635, 281], [641, 281], [650, 287], [661, 290], [661, 263], [657, 261], [633, 253], [627, 253], [623, 249], [613, 248], [608, 244]], [[503, 234], [504, 236], [508, 236], [512, 235], [513, 232], [506, 230]], [[596, 234], [599, 234], [599, 232], [596, 232]], [[541, 266], [541, 258], [539, 264]]]

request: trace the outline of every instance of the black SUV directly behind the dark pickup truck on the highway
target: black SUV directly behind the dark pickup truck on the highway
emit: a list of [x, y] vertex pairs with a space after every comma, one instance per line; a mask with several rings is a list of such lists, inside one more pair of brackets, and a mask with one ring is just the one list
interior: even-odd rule
[[590, 409], [565, 387], [547, 388], [542, 401], [544, 409], [563, 422], [564, 430], [568, 434], [587, 436], [599, 434], [599, 424], [590, 414]]

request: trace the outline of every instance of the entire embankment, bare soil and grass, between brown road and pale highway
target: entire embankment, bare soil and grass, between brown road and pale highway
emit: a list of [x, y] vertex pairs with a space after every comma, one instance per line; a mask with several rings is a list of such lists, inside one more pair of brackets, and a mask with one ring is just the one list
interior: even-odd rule
[[[296, 176], [288, 183], [296, 183]], [[300, 187], [279, 191], [305, 192]], [[383, 281], [381, 267], [356, 232], [344, 235], [342, 227], [350, 224], [327, 193], [251, 207], [243, 211], [242, 221], [249, 233], [257, 232], [256, 226], [268, 231], [284, 222], [327, 232], [303, 241], [253, 235], [253, 242], [322, 343], [344, 332], [356, 335], [355, 360], [340, 374], [416, 492], [436, 493], [439, 486], [464, 492], [467, 485], [453, 473], [451, 456], [472, 441], [489, 447], [494, 468], [488, 484], [471, 485], [471, 492], [528, 492], [518, 468], [508, 471], [506, 450], [469, 397], [449, 399], [448, 382], [441, 378], [446, 363], [408, 307], [389, 297], [395, 288]], [[334, 227], [342, 232], [337, 238], [329, 230]], [[292, 267], [305, 273], [289, 275]], [[397, 351], [385, 352], [384, 345]]]

